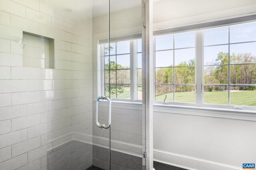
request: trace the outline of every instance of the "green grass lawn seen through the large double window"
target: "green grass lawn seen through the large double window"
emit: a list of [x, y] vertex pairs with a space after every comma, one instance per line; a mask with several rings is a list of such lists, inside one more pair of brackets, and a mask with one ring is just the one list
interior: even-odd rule
[[[167, 95], [166, 101], [173, 101], [173, 94], [164, 94], [157, 96], [157, 101], [163, 101]], [[176, 92], [176, 102], [195, 102], [194, 92]], [[212, 91], [204, 92], [204, 103], [205, 104], [228, 104], [228, 92], [224, 91]], [[252, 91], [240, 91], [230, 92], [230, 104], [241, 105], [241, 106], [256, 106], [256, 90]]]

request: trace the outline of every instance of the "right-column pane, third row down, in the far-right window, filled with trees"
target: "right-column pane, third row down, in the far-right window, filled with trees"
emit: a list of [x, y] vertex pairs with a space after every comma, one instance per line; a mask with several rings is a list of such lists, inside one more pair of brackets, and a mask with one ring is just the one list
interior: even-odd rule
[[231, 65], [230, 84], [256, 84], [256, 64]]

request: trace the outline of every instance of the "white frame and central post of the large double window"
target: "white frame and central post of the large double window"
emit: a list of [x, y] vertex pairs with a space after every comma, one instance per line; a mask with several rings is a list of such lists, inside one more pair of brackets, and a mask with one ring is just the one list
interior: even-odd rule
[[[222, 105], [222, 104], [204, 104], [204, 29], [211, 29], [211, 28], [217, 28], [217, 27], [224, 27], [224, 26], [231, 26], [231, 25], [238, 25], [238, 24], [242, 24], [242, 23], [251, 23], [251, 22], [255, 22], [256, 20], [250, 20], [250, 21], [241, 21], [241, 22], [236, 22], [236, 23], [228, 23], [228, 24], [222, 24], [222, 25], [216, 25], [216, 26], [212, 26], [212, 27], [203, 27], [200, 29], [188, 29], [185, 31], [176, 31], [176, 32], [170, 32], [170, 33], [164, 33], [164, 34], [158, 34], [158, 35], [154, 35], [154, 104], [162, 104], [163, 101], [156, 101], [155, 98], [155, 64], [156, 64], [156, 56], [155, 56], [155, 37], [156, 36], [160, 36], [160, 35], [170, 35], [170, 34], [176, 34], [176, 33], [185, 33], [185, 32], [190, 32], [190, 31], [195, 31], [195, 103], [188, 103], [188, 102], [171, 102], [171, 101], [167, 101], [170, 102], [169, 105], [170, 106], [195, 106], [195, 107], [213, 107], [213, 108], [220, 108], [220, 109], [234, 109], [234, 106], [236, 105]], [[229, 44], [229, 43], [228, 43]], [[228, 75], [229, 78], [229, 75]], [[228, 80], [230, 81], [230, 80]], [[229, 98], [229, 96], [228, 96]], [[229, 100], [229, 99], [228, 99]], [[166, 105], [165, 105], [166, 106]], [[256, 111], [256, 106], [239, 106], [242, 107], [243, 110], [252, 110], [252, 111]]]

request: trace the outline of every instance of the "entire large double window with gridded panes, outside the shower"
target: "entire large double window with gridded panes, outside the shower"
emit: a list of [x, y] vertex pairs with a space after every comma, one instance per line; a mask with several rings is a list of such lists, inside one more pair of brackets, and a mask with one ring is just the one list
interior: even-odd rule
[[256, 106], [256, 22], [160, 35], [154, 42], [156, 101]]

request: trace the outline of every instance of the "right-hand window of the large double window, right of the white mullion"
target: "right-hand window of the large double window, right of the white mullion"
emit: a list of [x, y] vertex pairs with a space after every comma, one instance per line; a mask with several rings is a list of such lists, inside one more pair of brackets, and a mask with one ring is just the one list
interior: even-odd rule
[[204, 103], [256, 106], [256, 23], [204, 30]]

